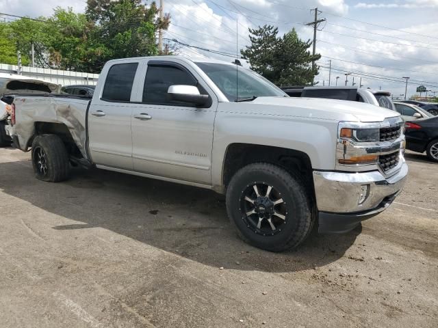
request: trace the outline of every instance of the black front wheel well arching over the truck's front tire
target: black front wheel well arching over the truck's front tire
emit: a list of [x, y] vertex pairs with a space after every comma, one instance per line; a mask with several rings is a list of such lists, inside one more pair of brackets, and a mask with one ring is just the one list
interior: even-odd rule
[[298, 176], [314, 197], [313, 170], [310, 158], [305, 152], [250, 143], [232, 143], [228, 146], [222, 176], [224, 186], [227, 187], [231, 178], [239, 169], [250, 163], [257, 162], [271, 163], [283, 167], [287, 172]]

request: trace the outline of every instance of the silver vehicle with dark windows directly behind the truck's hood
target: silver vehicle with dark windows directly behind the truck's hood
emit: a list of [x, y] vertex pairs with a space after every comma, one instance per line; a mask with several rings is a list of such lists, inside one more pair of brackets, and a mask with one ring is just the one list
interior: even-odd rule
[[368, 104], [396, 110], [391, 93], [358, 87], [281, 87], [291, 97], [327, 98], [367, 102]]

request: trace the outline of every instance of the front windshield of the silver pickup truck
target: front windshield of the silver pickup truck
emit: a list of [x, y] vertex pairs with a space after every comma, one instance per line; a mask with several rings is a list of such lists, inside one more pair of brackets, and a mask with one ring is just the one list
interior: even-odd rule
[[287, 96], [279, 87], [242, 66], [205, 62], [198, 62], [196, 65], [207, 74], [229, 101]]

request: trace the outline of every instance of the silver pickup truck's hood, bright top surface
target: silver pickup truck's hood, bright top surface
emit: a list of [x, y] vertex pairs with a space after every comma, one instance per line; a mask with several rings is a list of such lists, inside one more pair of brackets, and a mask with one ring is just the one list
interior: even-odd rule
[[259, 97], [247, 108], [263, 105], [263, 113], [295, 115], [322, 120], [382, 122], [385, 118], [400, 116], [396, 111], [364, 102], [323, 98]]

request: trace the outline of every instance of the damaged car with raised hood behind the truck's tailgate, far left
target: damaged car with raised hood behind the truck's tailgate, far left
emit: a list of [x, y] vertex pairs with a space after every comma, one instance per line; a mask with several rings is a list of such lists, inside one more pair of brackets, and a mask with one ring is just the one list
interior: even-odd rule
[[12, 104], [16, 94], [35, 94], [60, 92], [60, 85], [23, 75], [0, 73], [0, 146], [9, 146], [11, 139], [6, 134], [8, 112], [6, 105]]

